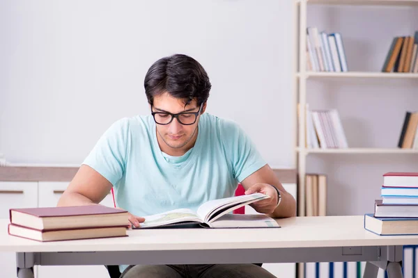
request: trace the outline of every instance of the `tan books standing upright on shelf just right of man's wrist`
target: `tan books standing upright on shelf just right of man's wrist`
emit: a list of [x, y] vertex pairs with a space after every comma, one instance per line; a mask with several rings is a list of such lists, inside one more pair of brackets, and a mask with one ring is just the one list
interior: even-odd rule
[[305, 215], [327, 215], [327, 176], [325, 174], [306, 174], [304, 202]]

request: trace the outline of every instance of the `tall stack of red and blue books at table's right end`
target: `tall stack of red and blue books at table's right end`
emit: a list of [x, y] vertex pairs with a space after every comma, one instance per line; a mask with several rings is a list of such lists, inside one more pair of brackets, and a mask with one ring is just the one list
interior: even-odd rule
[[383, 175], [382, 199], [364, 215], [364, 228], [379, 235], [418, 234], [418, 172]]

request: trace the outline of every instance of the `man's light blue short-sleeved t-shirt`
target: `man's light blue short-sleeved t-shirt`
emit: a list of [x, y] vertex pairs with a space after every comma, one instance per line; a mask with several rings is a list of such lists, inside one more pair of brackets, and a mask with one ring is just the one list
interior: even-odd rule
[[231, 197], [266, 163], [238, 124], [203, 113], [194, 147], [183, 156], [163, 153], [153, 117], [138, 115], [112, 124], [83, 164], [111, 182], [116, 206], [145, 216]]

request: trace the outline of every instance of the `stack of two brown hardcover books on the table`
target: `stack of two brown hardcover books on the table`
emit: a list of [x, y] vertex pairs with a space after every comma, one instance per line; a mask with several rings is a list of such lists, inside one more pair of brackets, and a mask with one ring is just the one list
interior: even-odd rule
[[127, 211], [102, 205], [10, 208], [8, 234], [38, 241], [127, 236]]

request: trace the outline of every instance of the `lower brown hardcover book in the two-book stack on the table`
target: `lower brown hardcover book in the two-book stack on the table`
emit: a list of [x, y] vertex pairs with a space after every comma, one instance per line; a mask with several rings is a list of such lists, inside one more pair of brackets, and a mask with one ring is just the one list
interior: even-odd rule
[[8, 234], [38, 241], [76, 240], [87, 238], [114, 238], [127, 236], [127, 226], [86, 227], [82, 229], [38, 230], [16, 224], [8, 224]]

